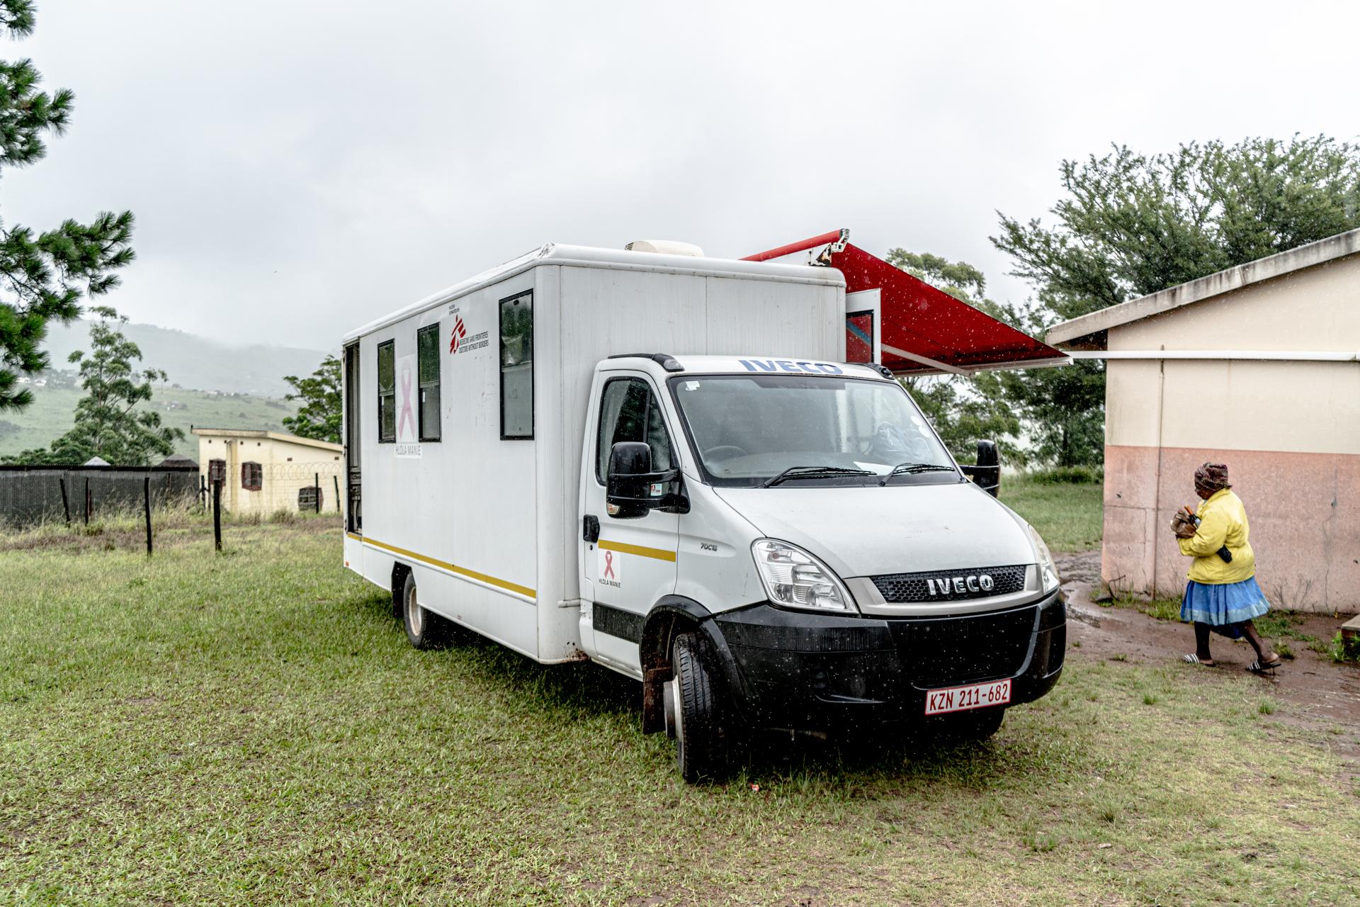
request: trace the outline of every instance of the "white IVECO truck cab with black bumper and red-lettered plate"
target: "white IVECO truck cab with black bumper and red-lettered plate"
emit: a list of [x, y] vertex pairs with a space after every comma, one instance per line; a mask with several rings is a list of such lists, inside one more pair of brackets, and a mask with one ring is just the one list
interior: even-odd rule
[[753, 728], [985, 737], [1057, 683], [1047, 547], [885, 369], [611, 356], [582, 435], [581, 646], [687, 779]]

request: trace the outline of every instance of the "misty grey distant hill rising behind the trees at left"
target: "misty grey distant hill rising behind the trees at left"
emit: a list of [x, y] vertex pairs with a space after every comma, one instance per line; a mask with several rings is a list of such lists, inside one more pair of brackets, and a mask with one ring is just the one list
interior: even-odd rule
[[[231, 345], [155, 325], [129, 324], [122, 333], [141, 348], [144, 369], [163, 369], [170, 375], [170, 383], [199, 390], [283, 397], [290, 390], [284, 375], [310, 375], [326, 356], [321, 349]], [[53, 369], [71, 369], [67, 356], [73, 349], [90, 349], [90, 324], [72, 321], [69, 325], [52, 325], [46, 348], [52, 354]], [[0, 416], [4, 417], [20, 422], [23, 416]]]

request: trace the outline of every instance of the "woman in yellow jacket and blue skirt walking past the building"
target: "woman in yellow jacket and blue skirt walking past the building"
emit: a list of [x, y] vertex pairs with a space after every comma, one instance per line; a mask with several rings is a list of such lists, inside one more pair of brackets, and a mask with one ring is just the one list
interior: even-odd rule
[[1200, 495], [1198, 511], [1186, 507], [1171, 521], [1180, 553], [1194, 558], [1190, 564], [1180, 620], [1194, 623], [1195, 651], [1185, 655], [1191, 665], [1213, 666], [1209, 634], [1229, 639], [1247, 638], [1257, 650], [1257, 660], [1247, 670], [1261, 673], [1280, 666], [1280, 655], [1268, 649], [1253, 619], [1270, 611], [1266, 596], [1257, 585], [1257, 558], [1247, 541], [1250, 526], [1242, 499], [1228, 484], [1228, 466], [1206, 462], [1194, 473]]

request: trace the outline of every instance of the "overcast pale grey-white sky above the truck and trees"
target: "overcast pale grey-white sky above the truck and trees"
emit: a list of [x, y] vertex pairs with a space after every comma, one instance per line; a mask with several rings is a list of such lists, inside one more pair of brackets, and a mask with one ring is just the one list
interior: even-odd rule
[[740, 257], [849, 227], [981, 267], [1111, 141], [1355, 140], [1353, 4], [39, 0], [76, 92], [5, 171], [35, 228], [131, 208], [133, 321], [335, 348], [544, 242]]

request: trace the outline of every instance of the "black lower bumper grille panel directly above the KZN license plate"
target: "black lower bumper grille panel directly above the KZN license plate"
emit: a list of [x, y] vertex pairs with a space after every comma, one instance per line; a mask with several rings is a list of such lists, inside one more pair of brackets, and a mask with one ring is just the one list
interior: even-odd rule
[[889, 620], [903, 673], [915, 687], [1012, 677], [1030, 655], [1035, 605], [989, 615]]

